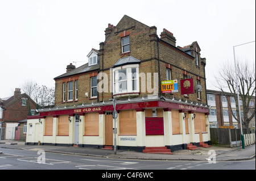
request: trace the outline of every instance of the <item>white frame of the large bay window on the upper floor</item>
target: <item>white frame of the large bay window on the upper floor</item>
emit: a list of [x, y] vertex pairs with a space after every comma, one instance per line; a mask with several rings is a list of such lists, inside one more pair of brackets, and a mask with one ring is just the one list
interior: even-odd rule
[[[136, 68], [136, 78], [133, 79], [132, 68]], [[126, 78], [122, 79], [122, 81], [118, 81], [119, 79], [119, 70], [126, 69]], [[139, 65], [138, 64], [131, 64], [131, 65], [124, 65], [119, 66], [117, 68], [112, 69], [113, 75], [113, 93], [114, 94], [123, 94], [123, 93], [132, 93], [132, 92], [139, 92]], [[133, 81], [136, 80], [136, 89], [133, 90]], [[121, 82], [126, 81], [126, 90], [119, 91], [119, 84]]]

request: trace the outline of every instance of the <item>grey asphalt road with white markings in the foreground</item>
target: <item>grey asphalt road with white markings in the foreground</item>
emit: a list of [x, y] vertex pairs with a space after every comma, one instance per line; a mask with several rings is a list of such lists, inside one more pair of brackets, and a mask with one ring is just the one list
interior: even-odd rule
[[[141, 173], [141, 175], [137, 175], [138, 177], [150, 176], [150, 172], [154, 173], [154, 170], [255, 170], [255, 158], [246, 161], [208, 163], [208, 161], [154, 161], [85, 157], [45, 153], [38, 149], [0, 148], [1, 151], [0, 170], [101, 170], [102, 174], [106, 173], [107, 170], [112, 170], [112, 172], [113, 170], [130, 170], [129, 173]], [[142, 174], [146, 172], [148, 175]], [[104, 176], [100, 173], [97, 176]], [[129, 177], [132, 175], [125, 174], [123, 176]], [[137, 177], [135, 174], [133, 176], [134, 178]]]

